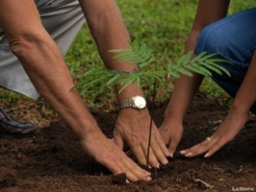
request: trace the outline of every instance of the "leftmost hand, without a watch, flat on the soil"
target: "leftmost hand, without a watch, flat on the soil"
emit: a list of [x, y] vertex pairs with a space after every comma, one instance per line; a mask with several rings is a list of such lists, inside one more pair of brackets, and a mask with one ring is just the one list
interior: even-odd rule
[[133, 182], [151, 180], [151, 173], [136, 165], [112, 140], [107, 139], [100, 131], [91, 133], [86, 139], [81, 140], [81, 146], [88, 155], [94, 157], [94, 160], [104, 165], [114, 175], [126, 173], [127, 179]]

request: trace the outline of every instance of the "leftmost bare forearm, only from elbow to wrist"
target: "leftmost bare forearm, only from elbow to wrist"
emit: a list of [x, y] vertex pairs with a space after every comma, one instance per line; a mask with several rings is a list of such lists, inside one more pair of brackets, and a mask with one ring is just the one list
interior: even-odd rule
[[56, 44], [45, 42], [14, 51], [37, 91], [74, 131], [84, 136], [94, 131], [96, 122], [84, 106]]

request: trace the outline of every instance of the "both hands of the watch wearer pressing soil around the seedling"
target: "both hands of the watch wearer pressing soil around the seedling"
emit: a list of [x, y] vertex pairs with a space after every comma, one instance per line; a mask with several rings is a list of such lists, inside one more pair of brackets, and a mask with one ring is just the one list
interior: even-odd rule
[[[138, 163], [146, 165], [150, 119], [148, 110], [122, 109], [118, 115], [112, 140], [107, 139], [99, 127], [95, 127], [94, 132], [90, 132], [81, 140], [81, 146], [87, 154], [94, 157], [94, 160], [104, 165], [114, 175], [126, 173], [128, 180], [150, 181], [151, 173], [140, 168], [123, 152], [124, 141], [126, 141]], [[149, 166], [159, 168], [159, 165], [168, 163], [167, 157], [170, 153], [156, 125], [152, 125]]]

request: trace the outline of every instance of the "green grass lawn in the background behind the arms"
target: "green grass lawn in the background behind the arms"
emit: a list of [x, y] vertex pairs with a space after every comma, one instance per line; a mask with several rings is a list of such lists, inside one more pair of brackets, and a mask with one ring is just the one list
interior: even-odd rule
[[[154, 50], [156, 62], [159, 68], [164, 68], [168, 63], [175, 63], [175, 60], [182, 55], [187, 35], [193, 23], [197, 9], [196, 0], [116, 0], [123, 14], [125, 24], [128, 27], [132, 40], [144, 42]], [[255, 6], [255, 0], [231, 0], [229, 14]], [[71, 45], [65, 56], [66, 64], [69, 66], [71, 75], [75, 81], [81, 80], [79, 74], [91, 68], [104, 68], [97, 48], [89, 32], [87, 24], [81, 28], [79, 34]], [[151, 82], [144, 82], [145, 94], [151, 93]], [[174, 80], [169, 78], [159, 83], [157, 89], [157, 101], [169, 99], [172, 92]], [[102, 84], [94, 85], [89, 91], [79, 89], [84, 101], [93, 108], [113, 109], [116, 105], [115, 93], [112, 87]], [[200, 93], [209, 97], [220, 97], [229, 101], [224, 91], [211, 81], [205, 78]], [[18, 93], [0, 90], [0, 104], [9, 103], [8, 107], [17, 107], [20, 100], [30, 101]], [[36, 102], [45, 108], [48, 106], [43, 99]]]

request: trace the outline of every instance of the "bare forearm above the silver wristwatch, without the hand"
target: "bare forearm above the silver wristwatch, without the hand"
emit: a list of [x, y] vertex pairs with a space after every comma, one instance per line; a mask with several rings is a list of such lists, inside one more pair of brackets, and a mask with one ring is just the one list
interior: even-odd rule
[[[137, 65], [128, 65], [128, 63], [121, 63], [113, 59], [114, 54], [109, 52], [109, 50], [128, 48], [128, 41], [130, 40], [128, 30], [125, 27], [122, 15], [115, 1], [107, 0], [102, 3], [102, 1], [80, 0], [80, 4], [84, 14], [89, 19], [87, 19], [89, 28], [106, 68], [127, 72], [131, 72], [131, 70], [137, 68]], [[97, 11], [90, 12], [87, 9], [89, 6], [91, 9], [97, 7], [97, 9], [94, 9]], [[115, 88], [118, 93], [121, 86], [117, 85]], [[143, 96], [143, 92], [135, 83], [118, 94], [118, 100], [129, 99], [136, 95]]]

